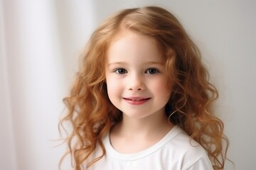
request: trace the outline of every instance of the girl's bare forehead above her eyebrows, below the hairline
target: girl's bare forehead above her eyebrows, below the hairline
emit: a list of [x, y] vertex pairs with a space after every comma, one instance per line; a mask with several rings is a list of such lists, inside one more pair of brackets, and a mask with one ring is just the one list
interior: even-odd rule
[[124, 31], [119, 33], [110, 43], [107, 62], [141, 61], [162, 62], [161, 52], [154, 38], [137, 33]]

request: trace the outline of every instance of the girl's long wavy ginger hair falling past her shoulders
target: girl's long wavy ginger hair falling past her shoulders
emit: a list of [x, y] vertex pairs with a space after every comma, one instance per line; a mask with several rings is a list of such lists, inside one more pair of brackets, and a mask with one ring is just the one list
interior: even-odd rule
[[68, 113], [59, 124], [72, 125], [66, 142], [74, 168], [80, 170], [99, 145], [103, 154], [87, 162], [86, 167], [97, 164], [105, 155], [102, 137], [122, 120], [122, 113], [107, 96], [105, 84], [107, 50], [122, 29], [154, 38], [173, 89], [166, 104], [166, 118], [206, 149], [213, 169], [223, 169], [228, 139], [223, 135], [223, 122], [213, 113], [218, 91], [209, 83], [201, 53], [181, 23], [169, 11], [156, 6], [119, 11], [92, 33], [70, 96], [63, 99]]

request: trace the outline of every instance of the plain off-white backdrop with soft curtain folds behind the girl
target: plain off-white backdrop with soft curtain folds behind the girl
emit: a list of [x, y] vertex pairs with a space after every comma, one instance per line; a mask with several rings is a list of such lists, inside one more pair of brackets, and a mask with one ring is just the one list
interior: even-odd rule
[[228, 158], [235, 169], [254, 169], [256, 2], [250, 0], [1, 0], [0, 169], [58, 169], [65, 151], [54, 141], [62, 98], [82, 48], [111, 13], [145, 5], [172, 11], [201, 48], [220, 92], [217, 111], [230, 139]]

